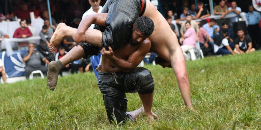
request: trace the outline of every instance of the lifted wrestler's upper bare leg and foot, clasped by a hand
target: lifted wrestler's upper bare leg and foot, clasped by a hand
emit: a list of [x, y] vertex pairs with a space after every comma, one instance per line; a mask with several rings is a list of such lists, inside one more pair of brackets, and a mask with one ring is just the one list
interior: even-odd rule
[[[57, 26], [50, 40], [50, 51], [53, 53], [63, 39], [71, 38], [76, 31], [77, 31], [76, 28], [69, 27], [65, 23], [60, 23]], [[101, 31], [96, 29], [88, 29], [85, 32], [85, 41], [82, 42], [102, 47], [101, 39], [102, 39]]]

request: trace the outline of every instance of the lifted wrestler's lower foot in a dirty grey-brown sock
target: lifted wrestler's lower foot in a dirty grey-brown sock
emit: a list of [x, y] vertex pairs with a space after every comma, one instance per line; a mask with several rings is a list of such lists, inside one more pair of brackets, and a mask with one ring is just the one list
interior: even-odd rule
[[60, 60], [51, 61], [48, 66], [47, 85], [49, 89], [53, 91], [57, 85], [59, 72], [64, 66]]

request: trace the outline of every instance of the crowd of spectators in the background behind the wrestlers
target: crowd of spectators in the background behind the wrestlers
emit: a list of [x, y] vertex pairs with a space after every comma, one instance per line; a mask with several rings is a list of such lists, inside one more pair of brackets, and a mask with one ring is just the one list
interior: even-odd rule
[[[106, 0], [50, 1], [52, 24], [50, 24], [49, 21], [50, 17], [47, 11], [47, 2], [44, 0], [12, 0], [10, 3], [12, 7], [7, 13], [3, 14], [0, 10], [0, 21], [16, 20], [17, 18], [21, 20], [20, 28], [17, 28], [13, 34], [14, 38], [28, 38], [38, 35], [36, 34], [36, 28], [31, 25], [30, 12], [34, 12], [35, 18], [42, 18], [44, 20], [44, 26], [42, 26], [42, 30], [39, 33], [41, 37], [39, 45], [31, 44], [36, 43], [35, 41], [18, 43], [18, 50], [28, 50], [23, 57], [23, 60], [26, 62], [25, 73], [27, 78], [29, 76], [28, 74], [36, 68], [40, 68], [43, 73], [46, 74], [49, 61], [62, 58], [74, 47], [73, 39], [66, 38], [58, 47], [56, 54], [50, 53], [51, 29], [55, 31], [57, 25], [61, 22], [77, 28], [85, 15], [101, 12], [102, 6], [91, 4], [90, 1], [99, 1], [101, 3], [100, 5], [104, 5], [106, 2]], [[162, 13], [160, 9], [159, 11], [165, 16], [171, 29], [177, 35], [186, 60], [190, 59], [188, 50], [195, 48], [197, 44], [199, 44], [204, 56], [249, 53], [261, 47], [261, 15], [260, 12], [254, 11], [252, 5], [249, 5], [249, 12], [245, 13], [237, 6], [236, 1], [230, 3], [227, 0], [220, 0], [219, 4], [214, 6], [214, 15], [219, 15], [221, 19], [227, 14], [236, 14], [237, 16], [230, 18], [229, 22], [223, 22], [222, 27], [219, 27], [216, 19], [209, 18], [211, 17], [209, 9], [205, 6], [206, 3], [202, 1], [198, 1], [197, 4], [190, 4], [190, 8], [186, 2], [182, 6], [179, 5], [176, 0], [170, 0], [167, 3], [171, 4], [167, 5], [167, 9], [163, 9], [165, 12]], [[201, 22], [196, 22], [196, 19], [200, 19], [197, 21]], [[244, 21], [247, 29], [233, 29], [233, 22], [238, 22], [239, 19]], [[1, 29], [0, 36], [2, 38], [9, 38]], [[144, 62], [151, 64], [156, 54], [148, 53], [148, 55], [151, 56], [151, 58], [149, 60], [144, 58]], [[71, 70], [71, 73], [89, 71], [91, 70], [91, 62], [80, 59], [79, 61], [66, 65], [62, 71], [69, 70]], [[0, 73], [4, 74], [4, 71], [2, 70]]]

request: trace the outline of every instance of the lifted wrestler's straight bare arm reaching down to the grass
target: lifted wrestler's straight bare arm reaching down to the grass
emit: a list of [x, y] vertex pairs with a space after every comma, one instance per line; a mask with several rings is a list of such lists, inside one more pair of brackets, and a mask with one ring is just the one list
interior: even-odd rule
[[170, 60], [171, 66], [179, 83], [179, 90], [184, 103], [187, 108], [192, 108], [186, 63], [180, 46], [176, 46], [175, 50], [173, 48], [170, 49]]

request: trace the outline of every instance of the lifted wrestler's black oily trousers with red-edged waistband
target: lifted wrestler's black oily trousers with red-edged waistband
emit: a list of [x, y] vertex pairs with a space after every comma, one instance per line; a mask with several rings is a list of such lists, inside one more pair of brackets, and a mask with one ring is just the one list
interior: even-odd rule
[[[94, 29], [102, 32], [102, 46], [108, 50], [116, 50], [120, 45], [130, 38], [133, 23], [142, 16], [146, 9], [146, 0], [108, 0], [102, 13], [108, 13], [105, 26], [95, 25]], [[84, 43], [82, 45], [85, 57], [98, 55], [101, 48]]]

